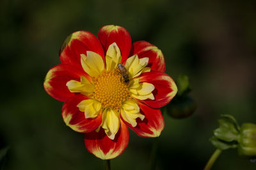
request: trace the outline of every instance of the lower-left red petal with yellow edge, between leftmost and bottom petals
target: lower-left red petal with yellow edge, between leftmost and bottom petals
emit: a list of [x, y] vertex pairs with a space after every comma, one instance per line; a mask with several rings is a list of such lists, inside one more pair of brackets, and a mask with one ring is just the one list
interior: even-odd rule
[[86, 99], [88, 99], [88, 97], [84, 95], [76, 95], [68, 99], [62, 107], [62, 117], [64, 122], [76, 132], [92, 132], [100, 126], [102, 121], [101, 113], [96, 118], [85, 118], [84, 112], [79, 111], [77, 105]]

